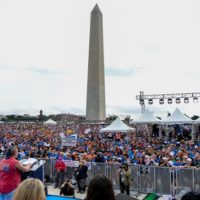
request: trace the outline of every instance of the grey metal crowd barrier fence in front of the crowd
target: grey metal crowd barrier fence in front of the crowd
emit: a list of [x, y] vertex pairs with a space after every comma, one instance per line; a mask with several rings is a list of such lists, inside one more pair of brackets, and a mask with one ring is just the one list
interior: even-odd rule
[[[55, 182], [55, 162], [55, 159], [46, 160], [44, 171], [47, 181]], [[114, 189], [120, 189], [118, 173], [120, 164], [90, 162], [87, 165], [87, 183], [95, 175], [105, 175], [112, 180]], [[78, 162], [67, 161], [66, 166], [65, 178], [73, 179]], [[169, 168], [144, 165], [130, 165], [130, 168], [133, 182], [130, 187], [131, 191], [175, 195], [181, 190], [200, 190], [200, 169], [198, 168]]]

